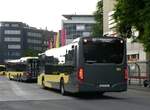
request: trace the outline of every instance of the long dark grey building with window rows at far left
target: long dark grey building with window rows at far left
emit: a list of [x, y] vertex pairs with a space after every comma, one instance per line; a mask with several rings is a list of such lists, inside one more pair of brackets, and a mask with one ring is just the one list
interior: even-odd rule
[[[48, 33], [48, 34], [45, 34]], [[28, 50], [46, 50], [49, 31], [30, 27], [22, 22], [0, 22], [0, 63], [24, 56]]]

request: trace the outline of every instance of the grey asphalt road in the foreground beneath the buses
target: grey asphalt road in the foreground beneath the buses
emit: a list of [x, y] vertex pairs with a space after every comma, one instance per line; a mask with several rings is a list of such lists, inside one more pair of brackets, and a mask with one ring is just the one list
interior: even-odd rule
[[0, 110], [150, 110], [150, 92], [128, 89], [104, 96], [61, 96], [35, 83], [9, 81], [0, 76]]

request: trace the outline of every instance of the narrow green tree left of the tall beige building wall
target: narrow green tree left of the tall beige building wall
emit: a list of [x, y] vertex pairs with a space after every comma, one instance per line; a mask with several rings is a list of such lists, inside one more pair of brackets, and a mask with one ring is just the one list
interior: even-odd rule
[[97, 9], [94, 12], [96, 24], [93, 25], [92, 35], [100, 37], [103, 35], [103, 0], [97, 2]]

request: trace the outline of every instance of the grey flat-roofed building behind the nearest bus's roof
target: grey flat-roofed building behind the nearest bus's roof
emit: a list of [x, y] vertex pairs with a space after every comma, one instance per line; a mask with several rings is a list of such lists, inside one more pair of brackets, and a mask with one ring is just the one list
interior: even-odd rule
[[92, 26], [95, 24], [93, 15], [63, 15], [62, 29], [66, 32], [66, 44], [73, 39], [83, 36], [91, 36]]

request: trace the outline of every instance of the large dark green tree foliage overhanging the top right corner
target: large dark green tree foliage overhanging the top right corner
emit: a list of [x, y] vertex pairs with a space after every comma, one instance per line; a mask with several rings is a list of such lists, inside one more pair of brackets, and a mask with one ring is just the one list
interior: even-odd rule
[[132, 36], [131, 29], [139, 31], [137, 41], [150, 52], [150, 0], [116, 0], [114, 19], [117, 32], [124, 38]]

